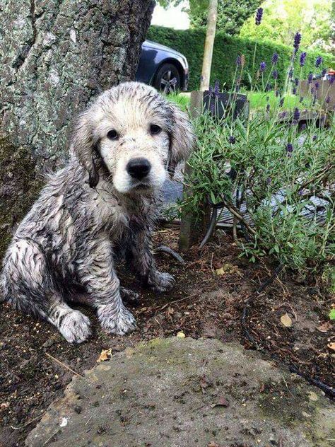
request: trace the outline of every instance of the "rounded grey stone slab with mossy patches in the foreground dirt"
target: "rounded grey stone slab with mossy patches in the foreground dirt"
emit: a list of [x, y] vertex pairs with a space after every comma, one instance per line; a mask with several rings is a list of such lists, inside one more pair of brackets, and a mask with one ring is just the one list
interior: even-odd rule
[[28, 447], [331, 447], [317, 388], [239, 344], [153, 339], [75, 376]]

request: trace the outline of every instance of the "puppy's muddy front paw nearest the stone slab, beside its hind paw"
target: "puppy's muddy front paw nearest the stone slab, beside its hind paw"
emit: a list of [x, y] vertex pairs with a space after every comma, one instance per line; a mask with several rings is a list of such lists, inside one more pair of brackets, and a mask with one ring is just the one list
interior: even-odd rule
[[101, 306], [98, 317], [102, 329], [110, 334], [124, 335], [136, 329], [134, 315], [124, 306], [117, 311], [114, 306]]

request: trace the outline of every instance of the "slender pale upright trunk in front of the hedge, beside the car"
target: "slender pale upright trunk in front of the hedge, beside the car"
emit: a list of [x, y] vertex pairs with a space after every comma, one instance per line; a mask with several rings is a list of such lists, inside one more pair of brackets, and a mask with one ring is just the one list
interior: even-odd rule
[[212, 66], [217, 15], [218, 15], [218, 0], [209, 0], [204, 60], [202, 62], [202, 70], [201, 70], [200, 91], [206, 91], [209, 88], [209, 81], [211, 79], [211, 66]]

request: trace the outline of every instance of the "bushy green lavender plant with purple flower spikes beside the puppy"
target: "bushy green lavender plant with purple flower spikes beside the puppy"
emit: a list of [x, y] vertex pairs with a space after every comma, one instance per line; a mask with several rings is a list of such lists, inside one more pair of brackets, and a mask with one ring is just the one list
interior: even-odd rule
[[[260, 23], [260, 14], [256, 20]], [[283, 91], [276, 87], [280, 54], [274, 54], [269, 67], [262, 62], [258, 76], [250, 74], [250, 79], [258, 77], [264, 90], [269, 80], [274, 81], [274, 101], [270, 104], [269, 93], [264, 92], [266, 107], [247, 122], [234, 118], [237, 81], [243, 70], [242, 55], [237, 58], [235, 86], [225, 116], [218, 118], [213, 110], [204, 110], [194, 120], [199, 143], [189, 160], [191, 173], [185, 178], [192, 195], [182, 208], [201, 214], [204, 203], [222, 204], [234, 216], [234, 225], [240, 226], [243, 237], [237, 243], [250, 260], [268, 254], [306, 273], [319, 272], [335, 260], [335, 121], [327, 100], [313, 104], [316, 96], [311, 88], [308, 98], [303, 98], [300, 79], [290, 81], [295, 58], [300, 66], [305, 63], [306, 53], [298, 55], [300, 40], [296, 33]], [[322, 70], [322, 58], [315, 61], [315, 68]], [[300, 125], [308, 110], [297, 105], [285, 108], [290, 83], [300, 106], [315, 106], [308, 125]], [[319, 88], [317, 83], [314, 88]], [[211, 94], [219, 101], [218, 85]]]

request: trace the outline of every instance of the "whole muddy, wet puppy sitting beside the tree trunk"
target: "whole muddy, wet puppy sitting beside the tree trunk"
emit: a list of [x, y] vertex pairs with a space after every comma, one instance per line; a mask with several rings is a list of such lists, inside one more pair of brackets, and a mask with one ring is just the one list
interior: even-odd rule
[[90, 321], [69, 302], [83, 290], [101, 326], [123, 335], [133, 315], [119, 286], [116, 255], [156, 291], [174, 279], [155, 267], [151, 232], [167, 172], [189, 156], [187, 115], [154, 88], [129, 82], [102, 93], [76, 120], [69, 164], [49, 177], [4, 257], [4, 297], [45, 318], [69, 342]]

